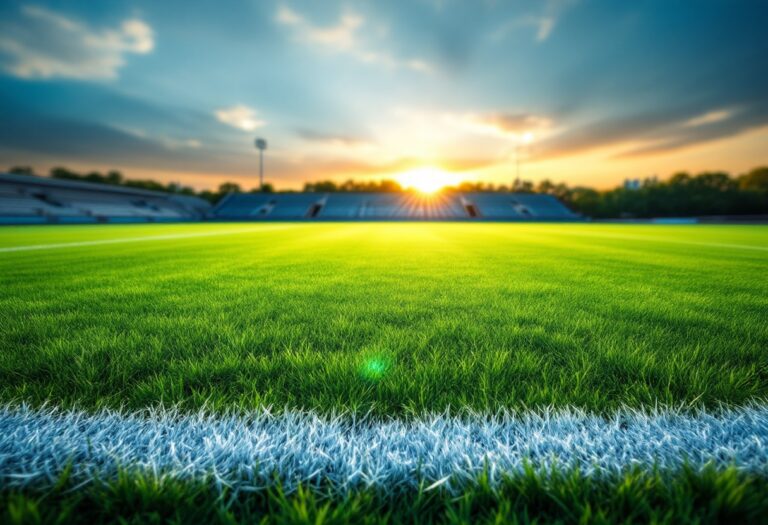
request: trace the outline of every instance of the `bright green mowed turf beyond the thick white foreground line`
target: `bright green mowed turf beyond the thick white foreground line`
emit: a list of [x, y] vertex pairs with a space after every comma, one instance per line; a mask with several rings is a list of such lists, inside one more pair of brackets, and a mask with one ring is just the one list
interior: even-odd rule
[[764, 226], [0, 229], [3, 402], [741, 405], [768, 397], [766, 319]]

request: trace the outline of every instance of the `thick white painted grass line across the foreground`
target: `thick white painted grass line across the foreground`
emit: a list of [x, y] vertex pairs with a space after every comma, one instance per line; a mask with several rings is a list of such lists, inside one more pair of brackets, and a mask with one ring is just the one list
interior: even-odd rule
[[528, 463], [604, 476], [630, 468], [673, 472], [713, 465], [768, 476], [768, 406], [684, 413], [578, 410], [519, 416], [426, 415], [374, 421], [314, 413], [250, 416], [148, 410], [0, 407], [0, 485], [46, 486], [68, 466], [76, 482], [113, 479], [118, 467], [221, 488], [330, 483], [387, 491], [443, 485], [457, 490], [487, 472], [497, 484]]

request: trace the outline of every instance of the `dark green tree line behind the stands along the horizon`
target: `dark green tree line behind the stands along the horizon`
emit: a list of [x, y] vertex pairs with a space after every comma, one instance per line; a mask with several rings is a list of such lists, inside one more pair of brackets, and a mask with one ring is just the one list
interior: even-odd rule
[[[11, 173], [34, 175], [29, 167], [14, 167]], [[55, 179], [77, 180], [112, 184], [130, 188], [161, 191], [180, 195], [201, 197], [211, 203], [218, 202], [228, 193], [242, 193], [245, 190], [234, 182], [225, 182], [217, 190], [195, 191], [194, 188], [177, 183], [163, 184], [154, 180], [127, 179], [119, 171], [107, 173], [77, 173], [67, 168], [53, 168], [49, 176]], [[271, 184], [263, 190], [250, 193], [274, 192]], [[397, 181], [355, 181], [337, 183], [331, 180], [308, 182], [304, 191], [317, 193], [334, 192], [388, 192], [406, 191]], [[650, 177], [633, 181], [610, 190], [596, 190], [586, 186], [569, 186], [542, 180], [515, 181], [511, 186], [483, 182], [463, 182], [444, 191], [515, 191], [520, 193], [542, 193], [553, 195], [577, 213], [594, 218], [649, 218], [685, 217], [707, 215], [761, 215], [768, 214], [768, 167], [759, 167], [747, 173], [733, 176], [726, 172], [703, 172], [690, 174], [675, 173], [661, 181]]]

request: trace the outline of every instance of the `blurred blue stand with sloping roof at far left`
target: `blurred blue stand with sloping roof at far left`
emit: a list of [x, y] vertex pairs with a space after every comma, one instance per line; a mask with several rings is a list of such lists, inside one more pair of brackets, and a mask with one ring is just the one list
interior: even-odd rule
[[0, 224], [190, 221], [209, 209], [197, 197], [0, 174]]

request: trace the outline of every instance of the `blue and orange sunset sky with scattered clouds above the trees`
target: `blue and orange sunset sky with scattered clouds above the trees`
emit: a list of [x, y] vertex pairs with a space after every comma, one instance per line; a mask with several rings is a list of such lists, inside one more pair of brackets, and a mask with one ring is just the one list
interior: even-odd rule
[[608, 188], [768, 164], [764, 0], [0, 4], [0, 166]]

